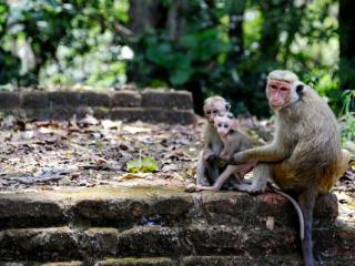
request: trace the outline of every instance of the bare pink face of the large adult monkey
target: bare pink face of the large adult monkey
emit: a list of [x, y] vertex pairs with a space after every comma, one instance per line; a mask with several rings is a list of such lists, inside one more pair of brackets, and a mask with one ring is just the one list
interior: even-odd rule
[[291, 101], [292, 88], [285, 81], [271, 80], [266, 85], [268, 104], [273, 110], [281, 110]]

